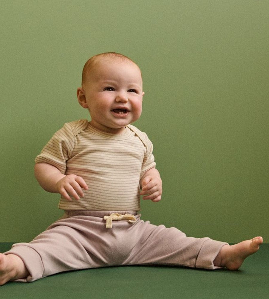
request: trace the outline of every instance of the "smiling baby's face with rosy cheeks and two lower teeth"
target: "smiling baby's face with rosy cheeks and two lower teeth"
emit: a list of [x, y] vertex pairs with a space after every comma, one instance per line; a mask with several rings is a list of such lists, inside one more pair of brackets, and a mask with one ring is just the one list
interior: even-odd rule
[[[78, 90], [79, 91], [79, 90]], [[82, 86], [84, 105], [91, 125], [104, 132], [122, 134], [125, 126], [137, 120], [142, 112], [142, 78], [131, 61], [97, 62]]]

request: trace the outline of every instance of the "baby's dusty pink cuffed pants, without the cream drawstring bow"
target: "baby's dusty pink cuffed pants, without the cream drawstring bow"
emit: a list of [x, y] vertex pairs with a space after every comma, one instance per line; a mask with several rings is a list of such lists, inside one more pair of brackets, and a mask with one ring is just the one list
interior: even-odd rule
[[193, 238], [177, 228], [152, 225], [135, 215], [136, 222], [113, 221], [106, 228], [103, 216], [115, 211], [67, 211], [62, 219], [30, 243], [17, 243], [5, 254], [25, 263], [31, 282], [62, 271], [123, 265], [178, 265], [217, 269], [213, 261], [227, 243]]

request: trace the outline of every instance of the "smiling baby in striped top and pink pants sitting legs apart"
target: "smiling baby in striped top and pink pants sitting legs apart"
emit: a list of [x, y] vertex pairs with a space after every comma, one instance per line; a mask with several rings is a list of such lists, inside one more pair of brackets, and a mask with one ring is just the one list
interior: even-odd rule
[[116, 265], [235, 270], [259, 249], [262, 237], [229, 245], [140, 219], [140, 195], [152, 202], [162, 195], [152, 143], [131, 125], [143, 95], [140, 69], [128, 57], [103, 53], [86, 62], [77, 98], [91, 121], [66, 123], [36, 157], [36, 179], [61, 195], [64, 216], [0, 254], [0, 285]]

